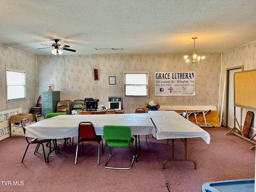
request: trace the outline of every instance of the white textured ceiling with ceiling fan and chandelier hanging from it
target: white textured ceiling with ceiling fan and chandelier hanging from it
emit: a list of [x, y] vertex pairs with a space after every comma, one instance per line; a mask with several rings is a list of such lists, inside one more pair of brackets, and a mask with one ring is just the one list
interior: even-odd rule
[[[226, 52], [256, 40], [256, 0], [1, 0], [0, 44], [51, 54]], [[96, 51], [95, 48], [124, 48]]]

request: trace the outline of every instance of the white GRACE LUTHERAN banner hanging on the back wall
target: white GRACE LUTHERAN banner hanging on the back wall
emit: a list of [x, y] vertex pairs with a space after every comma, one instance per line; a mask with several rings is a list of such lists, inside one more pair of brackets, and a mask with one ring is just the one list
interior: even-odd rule
[[155, 96], [196, 95], [196, 72], [155, 72]]

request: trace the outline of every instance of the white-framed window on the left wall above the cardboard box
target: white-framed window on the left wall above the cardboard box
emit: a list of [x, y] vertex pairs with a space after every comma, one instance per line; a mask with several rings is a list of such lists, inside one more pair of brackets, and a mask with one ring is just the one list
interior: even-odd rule
[[26, 72], [6, 69], [7, 101], [26, 99]]

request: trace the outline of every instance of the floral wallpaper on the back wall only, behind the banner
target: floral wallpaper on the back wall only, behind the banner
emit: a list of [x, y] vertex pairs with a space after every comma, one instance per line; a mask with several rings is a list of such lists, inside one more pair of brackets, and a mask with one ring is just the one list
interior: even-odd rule
[[[221, 54], [204, 54], [198, 66], [184, 63], [183, 54], [38, 55], [38, 95], [53, 84], [61, 100], [98, 98], [108, 104], [109, 96], [123, 96], [123, 72], [149, 72], [149, 99], [123, 99], [125, 113], [133, 113], [150, 100], [161, 105], [211, 105], [218, 107]], [[98, 80], [94, 80], [94, 68]], [[196, 71], [196, 96], [154, 96], [154, 72]], [[116, 76], [116, 84], [109, 84]]]

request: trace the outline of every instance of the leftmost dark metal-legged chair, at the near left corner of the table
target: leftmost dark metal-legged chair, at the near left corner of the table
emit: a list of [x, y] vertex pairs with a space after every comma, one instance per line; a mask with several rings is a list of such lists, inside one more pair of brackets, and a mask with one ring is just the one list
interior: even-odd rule
[[43, 152], [44, 152], [44, 161], [46, 162], [45, 151], [44, 151], [44, 143], [50, 142], [51, 140], [50, 139], [33, 138], [32, 140], [29, 141], [28, 137], [26, 137], [26, 128], [25, 127], [30, 125], [30, 124], [32, 124], [32, 123], [27, 118], [24, 118], [24, 119], [21, 120], [21, 125], [22, 125], [22, 128], [23, 128], [24, 134], [25, 134], [26, 142], [28, 143], [28, 146], [26, 148], [26, 151], [24, 153], [24, 156], [23, 156], [21, 162], [23, 162], [23, 160], [25, 158], [25, 155], [26, 155], [26, 152], [28, 151], [28, 147], [30, 146], [30, 144], [37, 144], [36, 149], [34, 151], [34, 154], [36, 154], [38, 152], [38, 149], [39, 149], [40, 145], [42, 145]]

